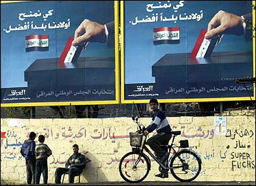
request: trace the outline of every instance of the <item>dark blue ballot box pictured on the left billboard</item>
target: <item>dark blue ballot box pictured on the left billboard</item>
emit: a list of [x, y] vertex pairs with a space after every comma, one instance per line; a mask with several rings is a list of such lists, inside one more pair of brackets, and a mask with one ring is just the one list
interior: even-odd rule
[[113, 87], [114, 57], [80, 57], [76, 63], [60, 63], [59, 58], [37, 59], [25, 70], [28, 89], [71, 89]]

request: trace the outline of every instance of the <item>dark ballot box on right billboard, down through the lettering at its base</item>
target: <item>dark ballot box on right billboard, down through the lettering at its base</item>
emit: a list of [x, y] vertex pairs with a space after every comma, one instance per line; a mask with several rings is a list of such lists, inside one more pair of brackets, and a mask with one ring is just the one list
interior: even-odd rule
[[[206, 58], [192, 58], [190, 53], [166, 54], [152, 66], [152, 76], [155, 89], [164, 93], [163, 97], [170, 97], [168, 89], [183, 90], [180, 96], [173, 93], [174, 98], [229, 97], [231, 91], [216, 91], [213, 95], [206, 90], [229, 89], [235, 86], [235, 78], [253, 76], [253, 52], [213, 52]], [[205, 91], [192, 95], [190, 89]]]

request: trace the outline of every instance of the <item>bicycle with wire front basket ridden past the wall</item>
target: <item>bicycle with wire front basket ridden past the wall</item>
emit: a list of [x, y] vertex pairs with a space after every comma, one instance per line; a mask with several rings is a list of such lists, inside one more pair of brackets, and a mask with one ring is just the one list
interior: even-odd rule
[[[151, 170], [151, 160], [149, 156], [144, 153], [149, 153], [149, 155], [159, 164], [159, 171], [162, 169], [170, 170], [175, 179], [181, 182], [189, 182], [196, 179], [201, 172], [201, 157], [188, 148], [188, 140], [181, 140], [180, 146], [174, 144], [175, 137], [181, 134], [181, 131], [172, 131], [172, 142], [171, 144], [162, 145], [163, 148], [168, 151], [169, 156], [161, 163], [161, 161], [151, 153], [149, 148], [146, 146], [146, 138], [144, 135], [145, 127], [138, 122], [138, 117], [133, 117], [138, 125], [138, 131], [136, 133], [130, 132], [130, 145], [132, 146], [132, 151], [125, 154], [119, 163], [120, 176], [128, 183], [139, 183], [146, 179], [146, 176]], [[144, 138], [144, 140], [142, 140]], [[175, 151], [175, 148], [179, 148]], [[172, 156], [170, 157], [170, 153]], [[167, 162], [167, 163], [166, 163]]]

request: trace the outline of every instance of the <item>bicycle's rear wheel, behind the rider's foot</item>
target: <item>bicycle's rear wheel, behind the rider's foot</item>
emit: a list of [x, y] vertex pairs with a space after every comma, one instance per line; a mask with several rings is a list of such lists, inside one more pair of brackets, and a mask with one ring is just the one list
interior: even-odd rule
[[201, 172], [201, 159], [193, 151], [182, 150], [172, 157], [170, 168], [178, 181], [193, 181]]

